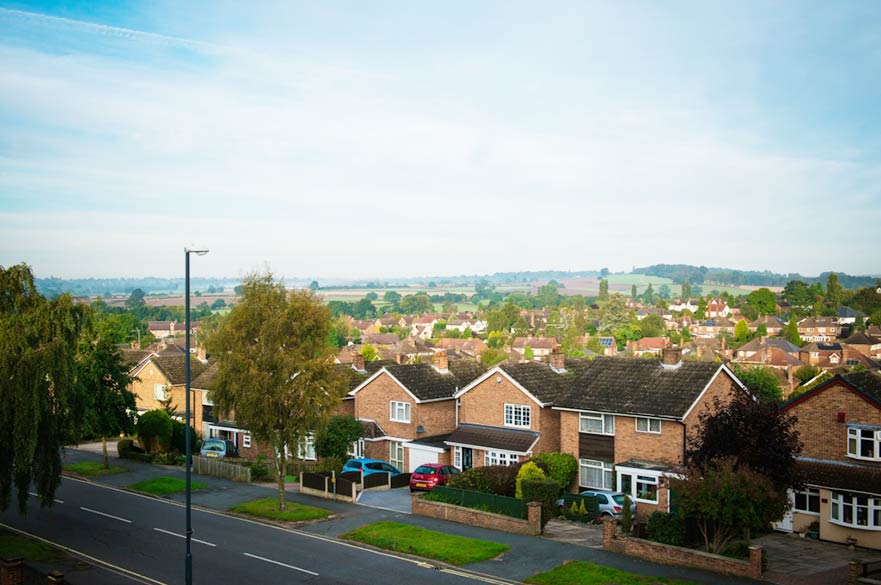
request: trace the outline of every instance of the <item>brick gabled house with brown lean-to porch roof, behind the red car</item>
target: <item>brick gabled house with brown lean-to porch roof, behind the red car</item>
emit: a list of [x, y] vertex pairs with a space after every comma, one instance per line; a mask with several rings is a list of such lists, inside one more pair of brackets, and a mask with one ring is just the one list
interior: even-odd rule
[[506, 363], [456, 393], [458, 425], [446, 440], [459, 469], [511, 465], [560, 450], [560, 413], [551, 409], [584, 368], [551, 354], [549, 363]]

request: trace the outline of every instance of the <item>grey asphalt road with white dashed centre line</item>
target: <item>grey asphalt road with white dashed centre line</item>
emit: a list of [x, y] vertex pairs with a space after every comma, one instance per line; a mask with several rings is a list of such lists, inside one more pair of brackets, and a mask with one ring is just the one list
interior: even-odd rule
[[[10, 507], [0, 524], [100, 561], [114, 571], [102, 582], [183, 583], [182, 506], [72, 478], [64, 479], [56, 498], [50, 509], [32, 498], [24, 516]], [[192, 514], [197, 584], [506, 582], [217, 512]]]

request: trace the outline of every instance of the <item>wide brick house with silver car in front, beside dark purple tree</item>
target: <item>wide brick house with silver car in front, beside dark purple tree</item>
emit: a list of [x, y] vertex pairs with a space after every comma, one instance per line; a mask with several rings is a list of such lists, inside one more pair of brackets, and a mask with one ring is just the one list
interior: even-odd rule
[[580, 489], [618, 490], [640, 518], [669, 510], [668, 480], [685, 463], [688, 436], [715, 398], [746, 391], [727, 366], [682, 361], [667, 348], [660, 361], [599, 357], [554, 404], [560, 449], [579, 462]]

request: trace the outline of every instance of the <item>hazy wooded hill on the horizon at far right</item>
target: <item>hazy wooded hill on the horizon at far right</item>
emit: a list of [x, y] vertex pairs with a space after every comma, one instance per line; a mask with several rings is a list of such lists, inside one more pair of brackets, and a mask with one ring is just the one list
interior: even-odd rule
[[[768, 270], [733, 270], [731, 268], [707, 268], [690, 264], [652, 264], [644, 268], [634, 268], [634, 274], [660, 276], [669, 278], [677, 284], [688, 280], [691, 284], [718, 284], [729, 286], [786, 286], [791, 280], [801, 280], [808, 284], [826, 283], [831, 272], [823, 272], [819, 276], [803, 276], [797, 272], [778, 274]], [[876, 276], [851, 276], [837, 272], [838, 282], [845, 288], [874, 286]]]

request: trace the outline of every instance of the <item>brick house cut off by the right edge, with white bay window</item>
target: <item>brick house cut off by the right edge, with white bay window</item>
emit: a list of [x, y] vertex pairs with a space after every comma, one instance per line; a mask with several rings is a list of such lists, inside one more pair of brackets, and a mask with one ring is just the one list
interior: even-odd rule
[[798, 418], [805, 487], [777, 528], [881, 549], [881, 375], [838, 375], [786, 402]]

